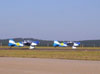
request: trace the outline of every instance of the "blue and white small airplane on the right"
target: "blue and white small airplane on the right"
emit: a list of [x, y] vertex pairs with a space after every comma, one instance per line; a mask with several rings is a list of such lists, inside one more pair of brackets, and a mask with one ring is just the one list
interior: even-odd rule
[[72, 49], [76, 49], [77, 46], [80, 45], [80, 42], [63, 42], [60, 43], [57, 40], [54, 41], [53, 46], [54, 47], [67, 47], [67, 46], [71, 46]]

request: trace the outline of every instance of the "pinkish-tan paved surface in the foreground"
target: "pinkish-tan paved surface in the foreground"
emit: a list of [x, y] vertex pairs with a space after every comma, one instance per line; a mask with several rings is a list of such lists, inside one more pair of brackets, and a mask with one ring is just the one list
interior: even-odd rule
[[0, 74], [100, 74], [100, 61], [1, 57]]

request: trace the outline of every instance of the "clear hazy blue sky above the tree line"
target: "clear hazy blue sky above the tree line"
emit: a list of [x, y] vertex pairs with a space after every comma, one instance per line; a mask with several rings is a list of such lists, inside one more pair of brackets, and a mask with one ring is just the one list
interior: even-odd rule
[[100, 0], [0, 0], [0, 39], [100, 39]]

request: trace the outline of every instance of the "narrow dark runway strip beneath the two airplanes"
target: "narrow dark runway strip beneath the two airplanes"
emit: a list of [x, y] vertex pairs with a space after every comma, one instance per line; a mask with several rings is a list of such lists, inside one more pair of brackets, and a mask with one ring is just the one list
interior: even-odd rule
[[100, 49], [66, 49], [66, 48], [0, 48], [0, 50], [37, 50], [37, 51], [100, 51]]

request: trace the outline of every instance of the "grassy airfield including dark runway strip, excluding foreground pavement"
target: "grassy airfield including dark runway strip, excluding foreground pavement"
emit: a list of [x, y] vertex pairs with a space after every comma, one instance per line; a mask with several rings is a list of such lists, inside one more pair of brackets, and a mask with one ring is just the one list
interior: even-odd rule
[[100, 47], [0, 47], [0, 57], [50, 58], [100, 61]]

